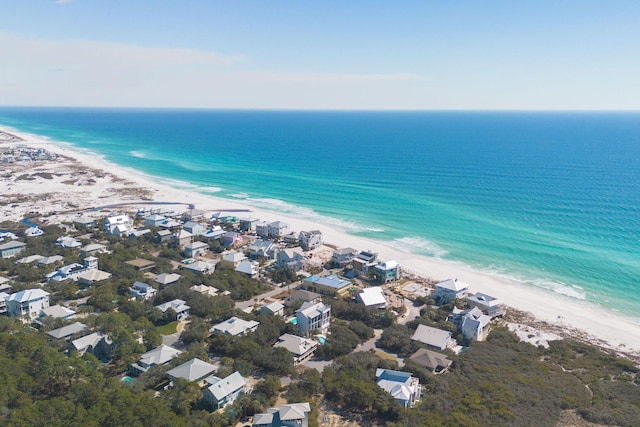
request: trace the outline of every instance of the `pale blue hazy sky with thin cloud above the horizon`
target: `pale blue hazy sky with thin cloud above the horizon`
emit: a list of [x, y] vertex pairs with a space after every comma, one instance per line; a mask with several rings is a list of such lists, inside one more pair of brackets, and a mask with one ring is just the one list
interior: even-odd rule
[[640, 109], [640, 1], [2, 0], [0, 105]]

